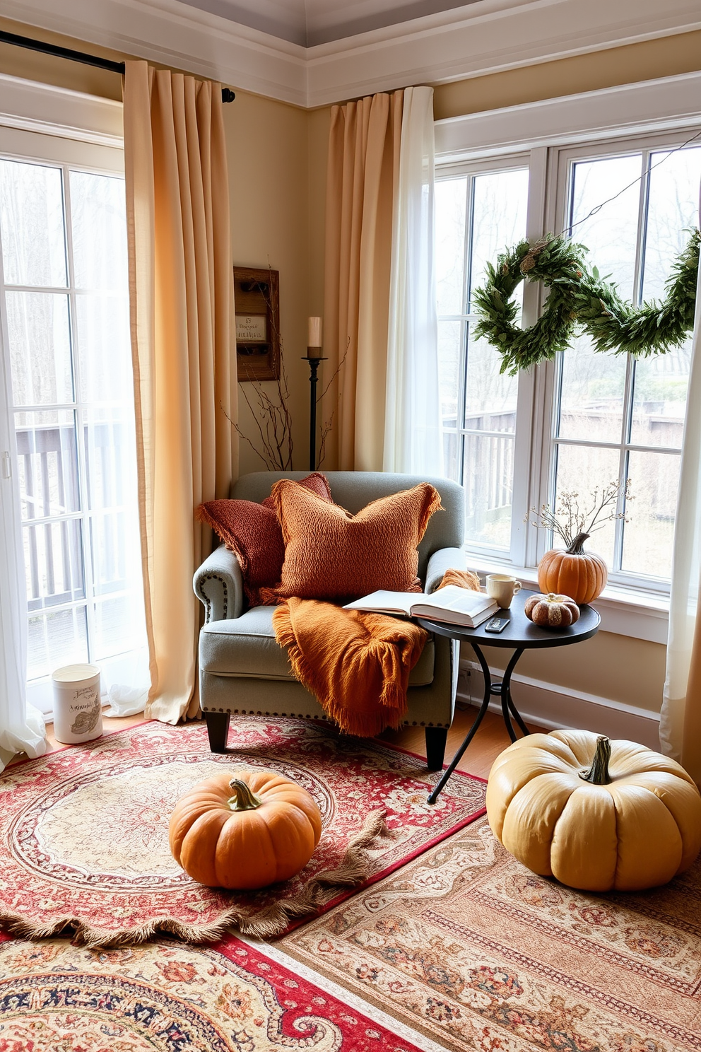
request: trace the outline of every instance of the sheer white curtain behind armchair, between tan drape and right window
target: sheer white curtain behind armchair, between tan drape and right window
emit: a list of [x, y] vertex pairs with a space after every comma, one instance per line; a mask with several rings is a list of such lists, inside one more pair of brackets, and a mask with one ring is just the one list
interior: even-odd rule
[[392, 225], [385, 471], [442, 474], [434, 211], [433, 88], [408, 87]]

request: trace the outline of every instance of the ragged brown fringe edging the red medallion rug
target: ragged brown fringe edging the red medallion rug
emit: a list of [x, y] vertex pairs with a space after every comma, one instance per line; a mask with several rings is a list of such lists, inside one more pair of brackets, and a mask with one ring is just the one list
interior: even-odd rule
[[392, 835], [385, 815], [384, 810], [371, 811], [363, 828], [349, 841], [337, 869], [317, 873], [294, 898], [281, 899], [257, 911], [234, 906], [226, 910], [214, 924], [204, 927], [183, 924], [174, 917], [164, 917], [150, 920], [139, 928], [114, 932], [94, 928], [76, 917], [63, 916], [51, 924], [35, 924], [20, 914], [6, 912], [0, 913], [0, 927], [12, 935], [33, 940], [71, 935], [74, 946], [83, 946], [88, 950], [135, 946], [158, 934], [174, 935], [193, 945], [217, 943], [229, 934], [231, 929], [238, 929], [243, 935], [253, 938], [277, 938], [287, 930], [291, 920], [315, 913], [319, 906], [334, 897], [336, 891], [355, 887], [368, 877], [370, 858], [367, 849], [376, 837]]

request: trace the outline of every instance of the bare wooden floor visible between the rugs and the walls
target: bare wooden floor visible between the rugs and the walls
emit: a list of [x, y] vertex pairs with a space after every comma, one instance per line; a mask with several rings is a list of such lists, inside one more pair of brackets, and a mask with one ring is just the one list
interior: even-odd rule
[[[462, 739], [470, 730], [472, 722], [476, 715], [477, 709], [472, 706], [469, 706], [468, 708], [457, 708], [455, 710], [453, 726], [448, 731], [446, 763], [450, 763], [453, 753], [457, 748], [459, 748]], [[133, 724], [142, 722], [143, 715], [124, 716], [121, 720], [107, 720], [105, 716], [102, 721], [103, 732], [105, 734], [109, 734], [112, 731], [124, 730], [126, 727], [131, 727]], [[530, 730], [542, 729], [540, 727], [536, 727], [535, 725], [529, 725], [529, 728]], [[48, 737], [47, 752], [54, 752], [57, 749], [65, 748], [65, 746], [58, 743], [54, 737], [53, 724], [49, 724], [46, 728], [46, 735]], [[421, 756], [426, 755], [426, 739], [422, 727], [404, 727], [398, 731], [388, 730], [380, 735], [380, 739], [384, 742], [391, 742], [392, 745], [398, 745], [403, 749], [408, 749], [410, 752], [417, 752]], [[470, 774], [478, 774], [480, 777], [486, 778], [495, 757], [498, 756], [501, 750], [506, 749], [510, 744], [511, 741], [501, 716], [495, 712], [488, 712], [474, 740], [470, 743], [465, 755], [462, 756], [462, 760], [457, 765], [458, 770], [468, 771]], [[17, 756], [13, 763], [24, 758], [26, 757]]]

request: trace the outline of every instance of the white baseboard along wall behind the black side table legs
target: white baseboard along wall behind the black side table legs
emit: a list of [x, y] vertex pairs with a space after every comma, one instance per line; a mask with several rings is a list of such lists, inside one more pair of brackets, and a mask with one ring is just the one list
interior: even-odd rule
[[[483, 693], [481, 669], [476, 662], [460, 661], [460, 672], [470, 672], [474, 686], [471, 694], [466, 692], [466, 680], [458, 680], [457, 697], [463, 703], [477, 705]], [[500, 669], [491, 669], [495, 680], [501, 679]], [[527, 675], [514, 673], [512, 676], [514, 703], [527, 722], [547, 727], [549, 730], [577, 728], [606, 734], [612, 739], [626, 739], [639, 742], [651, 749], [660, 748], [660, 715], [633, 705], [624, 705], [596, 694], [585, 694], [577, 690], [566, 690], [552, 683], [531, 680]], [[501, 712], [497, 697], [490, 703], [490, 709]]]

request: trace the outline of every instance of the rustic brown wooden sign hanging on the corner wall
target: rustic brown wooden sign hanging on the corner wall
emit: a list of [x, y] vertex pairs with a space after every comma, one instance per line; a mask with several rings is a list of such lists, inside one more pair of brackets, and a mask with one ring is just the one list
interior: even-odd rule
[[233, 268], [239, 380], [280, 377], [280, 280], [268, 267]]

